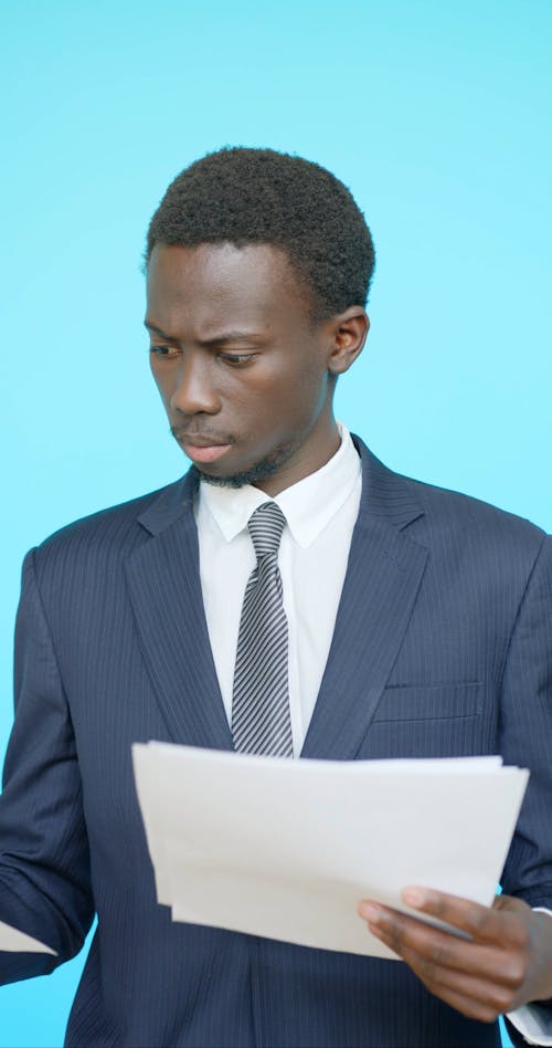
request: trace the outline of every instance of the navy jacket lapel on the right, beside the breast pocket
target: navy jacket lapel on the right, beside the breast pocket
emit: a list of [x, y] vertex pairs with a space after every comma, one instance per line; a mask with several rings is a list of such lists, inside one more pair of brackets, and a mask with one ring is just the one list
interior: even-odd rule
[[336, 628], [301, 756], [353, 759], [399, 653], [427, 549], [404, 528], [422, 507], [411, 486], [357, 441], [363, 464]]

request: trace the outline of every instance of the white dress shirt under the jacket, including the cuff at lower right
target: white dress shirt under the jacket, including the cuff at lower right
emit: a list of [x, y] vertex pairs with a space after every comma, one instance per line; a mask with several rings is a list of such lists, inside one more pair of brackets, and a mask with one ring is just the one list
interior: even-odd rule
[[[348, 429], [341, 422], [338, 427], [341, 443], [330, 461], [274, 499], [251, 484], [232, 489], [202, 481], [195, 503], [203, 604], [231, 727], [240, 618], [247, 579], [256, 563], [247, 522], [264, 502], [277, 502], [286, 517], [278, 564], [288, 623], [289, 709], [296, 757], [328, 660], [362, 489], [359, 454]], [[526, 1005], [509, 1018], [530, 1044], [552, 1045], [552, 1029], [542, 1008]]]

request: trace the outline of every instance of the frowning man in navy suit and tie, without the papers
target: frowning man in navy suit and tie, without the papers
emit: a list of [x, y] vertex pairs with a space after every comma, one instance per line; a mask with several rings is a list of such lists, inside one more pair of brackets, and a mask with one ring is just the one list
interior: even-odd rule
[[[270, 150], [198, 161], [151, 221], [151, 366], [194, 465], [33, 551], [18, 618], [0, 920], [57, 957], [2, 954], [0, 974], [73, 956], [97, 912], [68, 1045], [443, 1048], [498, 1045], [502, 1012], [550, 1024], [551, 544], [392, 473], [336, 423], [372, 269], [348, 190]], [[469, 939], [363, 901], [403, 964], [172, 924], [132, 784], [149, 738], [500, 752], [532, 773], [503, 894], [410, 887]]]

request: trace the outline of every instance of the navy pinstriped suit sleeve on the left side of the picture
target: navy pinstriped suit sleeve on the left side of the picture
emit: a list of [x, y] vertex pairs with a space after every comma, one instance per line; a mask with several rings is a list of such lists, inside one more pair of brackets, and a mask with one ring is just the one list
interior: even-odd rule
[[93, 914], [75, 738], [31, 552], [23, 565], [15, 721], [0, 796], [0, 920], [57, 956], [0, 951], [0, 984], [46, 974], [74, 956]]

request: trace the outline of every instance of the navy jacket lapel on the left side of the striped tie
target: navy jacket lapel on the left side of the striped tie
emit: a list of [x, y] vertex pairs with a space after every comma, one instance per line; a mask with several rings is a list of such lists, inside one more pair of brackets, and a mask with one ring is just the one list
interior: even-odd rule
[[174, 742], [232, 750], [203, 610], [194, 478], [139, 518], [151, 537], [126, 563], [140, 646]]

